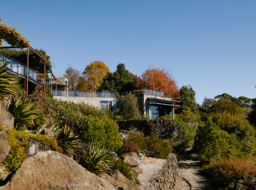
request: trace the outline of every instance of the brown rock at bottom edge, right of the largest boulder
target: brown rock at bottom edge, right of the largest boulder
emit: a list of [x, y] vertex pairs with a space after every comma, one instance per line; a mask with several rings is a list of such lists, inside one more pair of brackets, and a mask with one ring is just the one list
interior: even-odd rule
[[[117, 180], [118, 186], [117, 188], [125, 187], [126, 190], [137, 190], [137, 185], [135, 181], [131, 181], [127, 179], [119, 170], [113, 170], [111, 176]], [[122, 188], [124, 189], [124, 188]], [[1, 190], [1, 189], [0, 189]]]

